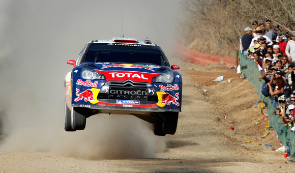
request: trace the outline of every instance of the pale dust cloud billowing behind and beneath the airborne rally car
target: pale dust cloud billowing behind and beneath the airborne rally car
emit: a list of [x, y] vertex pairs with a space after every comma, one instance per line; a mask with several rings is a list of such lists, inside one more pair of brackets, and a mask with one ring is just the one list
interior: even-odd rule
[[64, 130], [64, 78], [83, 46], [122, 36], [169, 54], [180, 1], [1, 1], [0, 152], [52, 152], [86, 159], [151, 158], [166, 150], [152, 125], [98, 114]]

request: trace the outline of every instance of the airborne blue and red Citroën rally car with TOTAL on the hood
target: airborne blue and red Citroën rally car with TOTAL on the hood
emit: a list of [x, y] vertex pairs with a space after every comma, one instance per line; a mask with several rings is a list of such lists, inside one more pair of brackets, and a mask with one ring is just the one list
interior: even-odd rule
[[98, 113], [132, 114], [154, 123], [155, 135], [174, 134], [181, 111], [182, 76], [150, 40], [94, 40], [65, 79], [65, 130], [83, 130]]

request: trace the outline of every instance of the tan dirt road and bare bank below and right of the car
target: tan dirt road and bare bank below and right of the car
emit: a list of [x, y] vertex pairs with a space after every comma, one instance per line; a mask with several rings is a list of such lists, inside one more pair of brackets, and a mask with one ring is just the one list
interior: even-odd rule
[[[144, 130], [138, 133], [149, 134], [146, 135], [147, 137], [143, 136], [149, 141], [143, 140], [140, 145], [133, 145], [134, 141], [129, 139], [138, 137], [138, 134], [133, 133], [137, 129], [128, 127], [130, 131], [122, 132], [126, 135], [123, 139], [127, 141], [122, 138], [112, 139], [113, 146], [105, 149], [108, 151], [104, 151], [100, 146], [100, 152], [104, 155], [98, 158], [75, 154], [83, 152], [88, 147], [82, 139], [78, 148], [71, 148], [70, 145], [73, 143], [70, 143], [60, 152], [2, 152], [0, 153], [0, 172], [260, 173], [293, 170], [294, 165], [286, 162], [286, 159], [281, 157], [281, 153], [268, 151], [259, 145], [244, 143], [255, 135], [263, 134], [263, 130], [259, 131], [263, 127], [253, 125], [255, 121], [253, 116], [259, 114], [260, 110], [258, 104], [251, 105], [251, 103], [259, 102], [259, 99], [247, 79], [239, 79], [239, 74], [236, 74], [235, 70], [221, 65], [199, 66], [178, 61], [181, 68], [185, 70], [181, 72], [184, 81], [183, 107], [175, 135], [151, 137], [149, 136], [153, 135], [151, 125], [130, 116], [128, 121], [133, 123], [140, 121], [139, 124]], [[212, 81], [220, 75], [225, 76], [225, 81], [229, 78], [232, 78], [232, 81], [222, 83]], [[227, 119], [220, 120], [224, 114], [227, 115]], [[249, 126], [245, 127], [248, 123]], [[230, 130], [229, 125], [235, 129]], [[274, 141], [273, 134], [271, 133], [268, 139], [263, 140]], [[113, 136], [113, 138], [116, 137]], [[119, 138], [117, 136], [117, 139]], [[128, 150], [126, 147], [120, 148], [122, 142], [130, 148]], [[147, 142], [152, 142], [153, 145], [147, 145]], [[93, 145], [96, 144], [93, 143]], [[151, 146], [156, 146], [158, 149], [138, 149]], [[148, 151], [151, 150], [152, 153], [149, 153]], [[121, 154], [114, 155], [113, 151]], [[149, 154], [130, 155], [132, 152], [142, 151]], [[95, 152], [97, 151], [93, 151]]]

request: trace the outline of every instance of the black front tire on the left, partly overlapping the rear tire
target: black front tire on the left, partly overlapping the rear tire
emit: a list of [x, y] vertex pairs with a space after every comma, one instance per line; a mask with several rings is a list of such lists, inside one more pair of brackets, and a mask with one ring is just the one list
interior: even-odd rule
[[86, 126], [86, 117], [75, 111], [75, 107], [71, 108], [71, 122], [74, 130], [84, 130]]

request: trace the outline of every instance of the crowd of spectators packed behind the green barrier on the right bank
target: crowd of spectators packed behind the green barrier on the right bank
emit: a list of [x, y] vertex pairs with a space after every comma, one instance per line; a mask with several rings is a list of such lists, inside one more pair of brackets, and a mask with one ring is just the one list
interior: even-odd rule
[[[242, 37], [243, 54], [256, 62], [265, 80], [274, 111], [290, 132], [295, 131], [295, 31], [286, 32], [266, 19], [252, 22]], [[289, 149], [289, 146], [286, 146]], [[290, 153], [288, 152], [288, 157]], [[295, 162], [295, 157], [292, 160]]]

